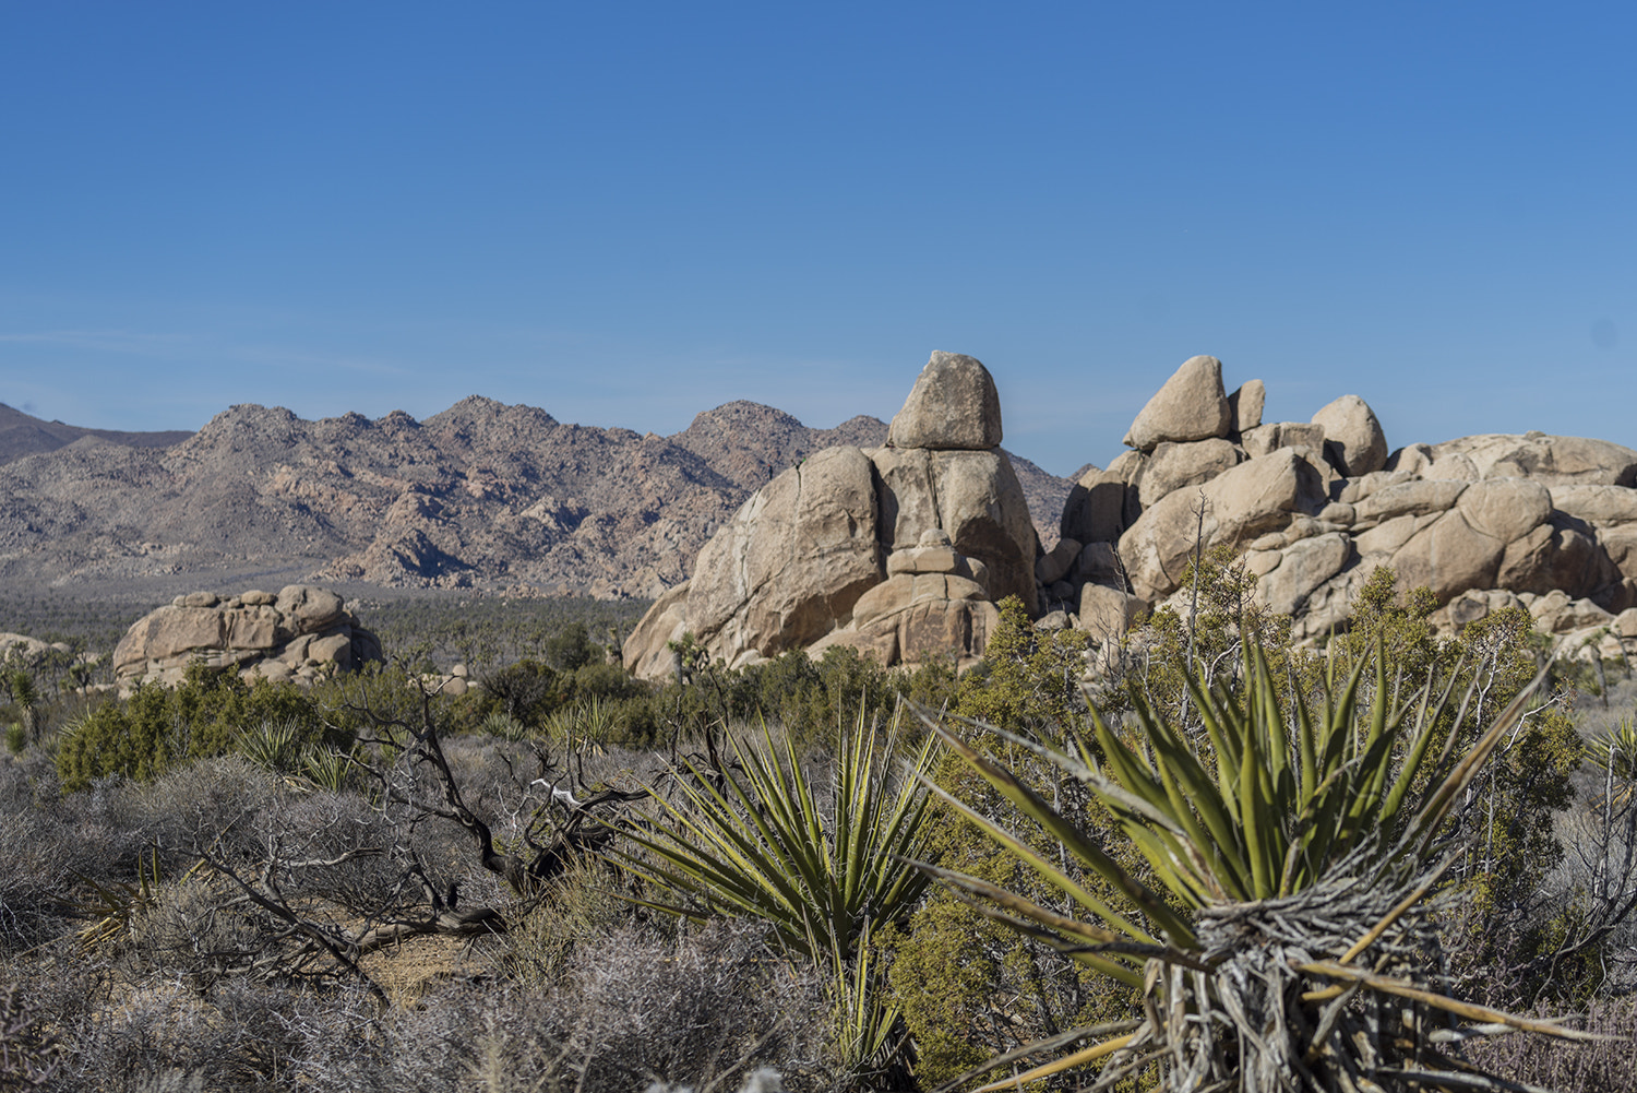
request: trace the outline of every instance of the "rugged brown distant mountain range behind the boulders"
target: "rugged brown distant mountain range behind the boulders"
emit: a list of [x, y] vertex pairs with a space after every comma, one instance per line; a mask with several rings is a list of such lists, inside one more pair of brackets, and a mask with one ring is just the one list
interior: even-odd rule
[[[760, 485], [886, 423], [810, 429], [732, 401], [674, 436], [471, 397], [304, 421], [241, 405], [198, 433], [113, 433], [0, 405], [0, 592], [85, 598], [486, 588], [656, 596]], [[1012, 457], [1048, 544], [1072, 487]]]

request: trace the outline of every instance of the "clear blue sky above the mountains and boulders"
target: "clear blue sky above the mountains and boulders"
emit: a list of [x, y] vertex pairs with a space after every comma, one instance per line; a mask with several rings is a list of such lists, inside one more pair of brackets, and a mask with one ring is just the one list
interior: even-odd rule
[[891, 416], [1105, 464], [1185, 357], [1637, 447], [1626, 3], [0, 0], [0, 401]]

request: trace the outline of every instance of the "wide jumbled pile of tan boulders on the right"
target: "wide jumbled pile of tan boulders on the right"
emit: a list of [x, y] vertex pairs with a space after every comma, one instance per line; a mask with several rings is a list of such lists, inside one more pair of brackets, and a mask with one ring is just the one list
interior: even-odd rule
[[1133, 451], [1071, 495], [1036, 567], [1048, 608], [1116, 636], [1179, 590], [1197, 542], [1228, 544], [1298, 637], [1344, 624], [1390, 565], [1432, 590], [1445, 628], [1526, 606], [1580, 646], [1601, 628], [1604, 655], [1629, 629], [1637, 652], [1637, 452], [1531, 433], [1390, 454], [1355, 395], [1264, 424], [1264, 393], [1229, 395], [1220, 361], [1187, 361], [1133, 421]]

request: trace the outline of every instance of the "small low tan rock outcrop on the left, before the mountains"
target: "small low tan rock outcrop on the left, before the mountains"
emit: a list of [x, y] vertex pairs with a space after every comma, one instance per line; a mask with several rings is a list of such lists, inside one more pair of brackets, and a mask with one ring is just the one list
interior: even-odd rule
[[309, 683], [381, 659], [381, 642], [359, 626], [339, 595], [290, 585], [273, 595], [193, 592], [131, 624], [113, 652], [121, 688], [174, 685], [190, 664], [237, 667], [247, 680]]

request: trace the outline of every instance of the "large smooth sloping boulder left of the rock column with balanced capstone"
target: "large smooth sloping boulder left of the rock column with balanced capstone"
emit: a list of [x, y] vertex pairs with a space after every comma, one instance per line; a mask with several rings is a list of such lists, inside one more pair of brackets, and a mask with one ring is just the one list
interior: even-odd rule
[[845, 623], [886, 577], [874, 470], [856, 447], [791, 467], [735, 513], [694, 567], [688, 629], [712, 655], [776, 655]]

